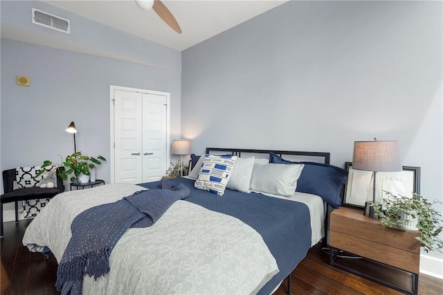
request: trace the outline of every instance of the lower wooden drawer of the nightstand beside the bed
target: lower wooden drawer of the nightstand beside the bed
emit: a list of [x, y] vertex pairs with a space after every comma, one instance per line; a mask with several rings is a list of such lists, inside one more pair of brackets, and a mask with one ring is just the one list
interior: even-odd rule
[[[415, 244], [417, 244], [417, 240], [415, 241]], [[419, 273], [419, 253], [386, 247], [386, 245], [377, 242], [371, 242], [336, 231], [330, 231], [329, 244], [334, 248], [391, 265], [392, 267], [398, 267], [415, 274]]]

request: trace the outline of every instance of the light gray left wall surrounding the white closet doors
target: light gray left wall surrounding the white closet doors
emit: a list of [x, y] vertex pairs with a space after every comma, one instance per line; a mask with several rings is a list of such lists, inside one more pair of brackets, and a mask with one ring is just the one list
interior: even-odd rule
[[[169, 92], [170, 137], [180, 138], [179, 51], [40, 1], [1, 1], [0, 5], [1, 170], [45, 159], [60, 163], [57, 154], [66, 157], [73, 152], [73, 135], [65, 129], [75, 121], [77, 150], [108, 159], [98, 168], [97, 177], [109, 183], [110, 85]], [[31, 7], [71, 19], [71, 35], [31, 24]], [[17, 41], [26, 39], [20, 33], [32, 42], [48, 40], [57, 48]], [[17, 75], [29, 76], [30, 87], [18, 86]], [[8, 213], [12, 208], [5, 206]]]

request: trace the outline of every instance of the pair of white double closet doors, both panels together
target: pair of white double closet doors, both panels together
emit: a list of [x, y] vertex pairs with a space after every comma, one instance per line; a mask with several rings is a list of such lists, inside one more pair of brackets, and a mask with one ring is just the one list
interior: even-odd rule
[[157, 181], [168, 168], [168, 93], [113, 89], [114, 182]]

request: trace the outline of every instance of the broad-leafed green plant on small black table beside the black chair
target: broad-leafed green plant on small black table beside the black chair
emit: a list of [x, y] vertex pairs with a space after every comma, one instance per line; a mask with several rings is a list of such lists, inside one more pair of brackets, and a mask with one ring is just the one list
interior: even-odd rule
[[[60, 158], [62, 158], [60, 156]], [[74, 184], [80, 183], [80, 176], [81, 175], [88, 175], [90, 174], [91, 169], [95, 169], [96, 165], [101, 165], [101, 161], [106, 161], [105, 157], [102, 157], [98, 155], [97, 158], [89, 157], [86, 155], [83, 155], [82, 152], [74, 152], [73, 154], [66, 156], [66, 159], [63, 162], [62, 159], [62, 166], [65, 167], [64, 170], [58, 170], [57, 175], [60, 176], [63, 180], [68, 180], [68, 176], [73, 174], [71, 177], [71, 182]], [[44, 161], [42, 168], [45, 168], [46, 166], [52, 165], [53, 162], [51, 161]], [[37, 176], [42, 174], [44, 170], [41, 170], [39, 173], [37, 173]], [[87, 181], [86, 181], [87, 182]]]

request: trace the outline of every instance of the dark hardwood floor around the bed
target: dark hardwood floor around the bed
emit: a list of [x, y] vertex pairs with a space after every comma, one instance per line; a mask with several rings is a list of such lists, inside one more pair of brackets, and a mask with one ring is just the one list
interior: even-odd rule
[[[55, 289], [57, 261], [41, 253], [31, 253], [21, 244], [30, 220], [5, 222], [1, 238], [1, 294], [60, 294]], [[371, 280], [366, 280], [327, 264], [328, 256], [320, 247], [309, 250], [291, 274], [291, 294], [401, 294]], [[367, 265], [362, 267], [368, 268]], [[387, 273], [389, 270], [377, 268]], [[394, 276], [392, 280], [404, 280]], [[286, 294], [286, 280], [275, 295]], [[421, 274], [419, 294], [443, 294], [443, 280]]]

